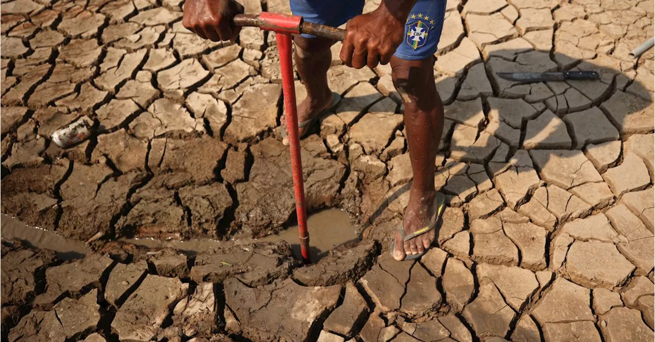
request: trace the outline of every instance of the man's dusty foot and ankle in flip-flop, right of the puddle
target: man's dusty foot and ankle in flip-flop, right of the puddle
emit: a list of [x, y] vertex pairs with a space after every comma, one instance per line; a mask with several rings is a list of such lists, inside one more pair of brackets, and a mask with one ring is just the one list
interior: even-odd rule
[[[409, 203], [407, 203], [407, 209], [405, 209], [405, 216], [403, 217], [405, 235], [425, 228], [434, 222], [435, 215], [437, 214], [434, 208], [435, 200], [436, 192], [434, 191], [421, 192], [413, 188], [410, 190]], [[409, 239], [409, 241], [403, 241], [400, 233], [396, 232], [394, 259], [400, 261], [405, 258], [405, 255], [419, 254], [430, 248], [432, 241], [434, 241], [434, 236], [435, 230], [430, 230], [427, 233]]]

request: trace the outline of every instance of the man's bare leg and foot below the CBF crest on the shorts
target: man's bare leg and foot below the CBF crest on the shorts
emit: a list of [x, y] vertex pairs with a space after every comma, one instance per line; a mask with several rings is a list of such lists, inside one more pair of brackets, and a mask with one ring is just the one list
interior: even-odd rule
[[[403, 216], [405, 233], [420, 230], [434, 222], [435, 159], [443, 129], [443, 103], [434, 84], [432, 56], [424, 60], [391, 60], [394, 86], [405, 105], [405, 130], [409, 145], [409, 159], [414, 174], [409, 203]], [[396, 233], [394, 258], [403, 260], [405, 254], [418, 254], [434, 241], [435, 230], [403, 243]]]

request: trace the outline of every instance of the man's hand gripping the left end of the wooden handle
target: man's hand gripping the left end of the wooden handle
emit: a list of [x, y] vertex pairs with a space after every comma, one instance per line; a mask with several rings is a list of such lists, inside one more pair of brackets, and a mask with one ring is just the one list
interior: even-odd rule
[[182, 24], [196, 35], [212, 41], [234, 41], [241, 27], [232, 24], [244, 7], [234, 0], [187, 0]]

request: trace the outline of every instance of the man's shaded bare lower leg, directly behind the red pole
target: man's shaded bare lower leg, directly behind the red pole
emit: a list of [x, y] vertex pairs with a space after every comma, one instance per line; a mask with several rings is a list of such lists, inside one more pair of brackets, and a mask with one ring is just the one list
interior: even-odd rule
[[[293, 37], [295, 43], [295, 67], [307, 89], [307, 98], [298, 105], [298, 122], [309, 120], [330, 107], [333, 101], [332, 92], [327, 86], [327, 69], [332, 62], [330, 46], [334, 41], [324, 38], [305, 38], [300, 35]], [[282, 120], [286, 128], [286, 120]], [[298, 129], [302, 137], [309, 127]], [[284, 139], [284, 144], [288, 143]]]

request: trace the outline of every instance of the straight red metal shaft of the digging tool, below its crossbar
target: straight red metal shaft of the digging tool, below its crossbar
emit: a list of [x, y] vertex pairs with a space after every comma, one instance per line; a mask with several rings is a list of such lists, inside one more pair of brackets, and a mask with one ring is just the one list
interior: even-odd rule
[[287, 133], [291, 150], [291, 173], [293, 173], [293, 192], [295, 194], [295, 213], [298, 216], [298, 237], [303, 262], [310, 264], [309, 231], [305, 212], [305, 187], [303, 186], [303, 163], [300, 158], [300, 139], [298, 135], [298, 114], [295, 106], [295, 86], [293, 84], [293, 60], [291, 60], [291, 35], [276, 32], [280, 69], [282, 71], [282, 90], [284, 109], [287, 118]]

